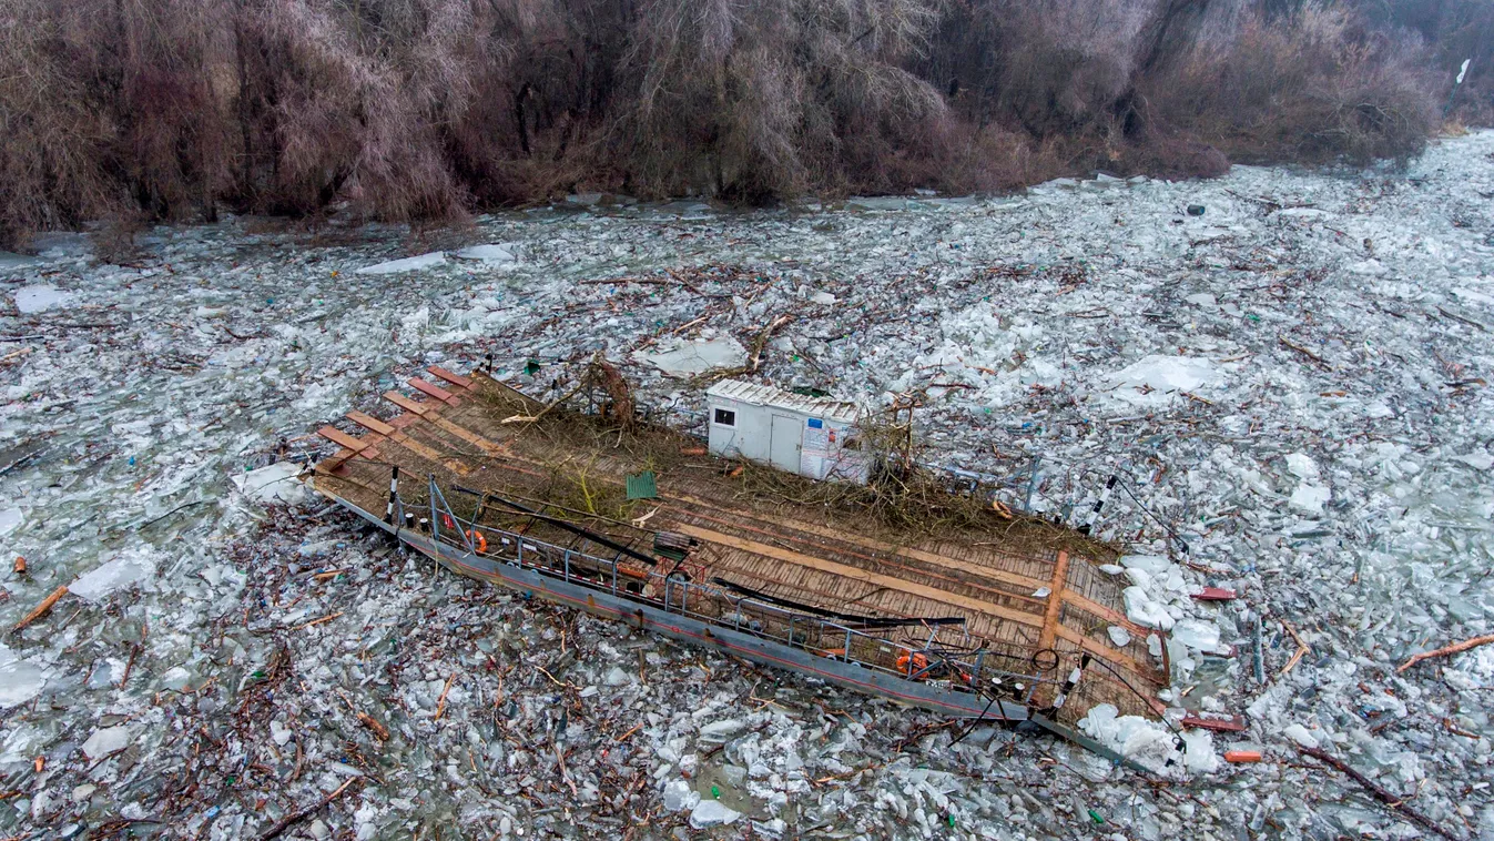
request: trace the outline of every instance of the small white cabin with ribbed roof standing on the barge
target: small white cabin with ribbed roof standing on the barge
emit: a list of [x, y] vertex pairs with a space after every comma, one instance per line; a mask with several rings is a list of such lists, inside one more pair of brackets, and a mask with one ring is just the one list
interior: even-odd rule
[[811, 480], [867, 482], [870, 454], [855, 403], [723, 379], [705, 391], [710, 450]]

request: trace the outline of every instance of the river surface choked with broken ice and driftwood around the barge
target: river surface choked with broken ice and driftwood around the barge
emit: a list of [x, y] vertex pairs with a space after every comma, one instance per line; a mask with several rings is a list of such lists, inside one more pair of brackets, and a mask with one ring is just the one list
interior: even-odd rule
[[[350, 778], [287, 837], [1410, 834], [1309, 744], [1494, 838], [1494, 647], [1397, 672], [1491, 630], [1494, 133], [1406, 172], [37, 245], [0, 260], [0, 550], [27, 565], [0, 618], [70, 593], [0, 645], [3, 834], [255, 837]], [[1132, 618], [1171, 632], [1173, 702], [1247, 730], [1179, 754], [1091, 721], [1165, 789], [1046, 736], [950, 747], [923, 714], [435, 574], [261, 469], [487, 354], [542, 387], [605, 350], [698, 426], [645, 351], [731, 356], [781, 315], [766, 378], [925, 394], [923, 457], [1010, 478], [1013, 505], [1031, 485], [1079, 523], [1118, 475], [1097, 530], [1131, 545]]]

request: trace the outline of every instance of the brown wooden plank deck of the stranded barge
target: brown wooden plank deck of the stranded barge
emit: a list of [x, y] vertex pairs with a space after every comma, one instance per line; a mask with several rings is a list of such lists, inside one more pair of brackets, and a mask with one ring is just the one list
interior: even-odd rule
[[[495, 505], [487, 494], [650, 557], [659, 532], [686, 535], [698, 545], [683, 565], [639, 563], [638, 580], [678, 566], [696, 583], [729, 583], [838, 614], [958, 617], [962, 624], [910, 624], [890, 638], [914, 647], [985, 648], [1011, 662], [1011, 671], [1041, 668], [1053, 681], [1067, 677], [1083, 651], [1115, 674], [1086, 672], [1067, 716], [1101, 701], [1128, 713], [1155, 711], [1155, 702], [1118, 681], [1123, 677], [1147, 699], [1165, 684], [1162, 663], [1146, 651], [1152, 632], [1126, 620], [1122, 581], [1101, 572], [1095, 556], [1113, 557], [1080, 535], [994, 512], [982, 529], [911, 532], [855, 505], [763, 493], [738, 475], [737, 463], [684, 454], [698, 442], [681, 435], [607, 430], [593, 418], [547, 411], [481, 372], [463, 376], [433, 367], [430, 373], [411, 379], [406, 393], [384, 394], [394, 411], [390, 417], [348, 412], [342, 429], [321, 430], [341, 450], [318, 465], [318, 491], [382, 512], [397, 465], [406, 502], [411, 494], [426, 499], [426, 480], [433, 477], [460, 517], [536, 541], [565, 545], [577, 538], [550, 520]], [[535, 415], [542, 417], [514, 420]], [[656, 472], [657, 499], [629, 502], [624, 477], [642, 469]], [[1110, 626], [1125, 627], [1132, 641], [1115, 645]], [[1053, 690], [1044, 687], [1049, 698], [1040, 692], [1034, 701], [1050, 702]]]

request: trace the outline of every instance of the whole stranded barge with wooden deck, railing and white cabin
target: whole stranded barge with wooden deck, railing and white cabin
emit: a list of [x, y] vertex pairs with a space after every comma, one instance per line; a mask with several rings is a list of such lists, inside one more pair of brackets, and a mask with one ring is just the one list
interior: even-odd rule
[[[384, 394], [396, 415], [323, 427], [339, 450], [309, 484], [454, 572], [1115, 760], [1076, 721], [1161, 710], [1155, 632], [1098, 569], [1113, 548], [865, 456], [886, 442], [864, 441], [849, 403], [719, 384], [707, 447], [638, 424], [601, 360], [550, 403], [483, 370], [430, 373]], [[729, 429], [753, 408], [760, 453]]]

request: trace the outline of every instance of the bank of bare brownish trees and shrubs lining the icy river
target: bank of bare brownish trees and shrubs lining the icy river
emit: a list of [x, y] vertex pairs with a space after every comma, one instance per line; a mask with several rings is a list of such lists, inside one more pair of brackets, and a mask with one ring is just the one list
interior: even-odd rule
[[[0, 242], [1415, 154], [1484, 0], [10, 0]], [[1422, 46], [1427, 43], [1430, 46]], [[1464, 55], [1466, 54], [1466, 55]]]

